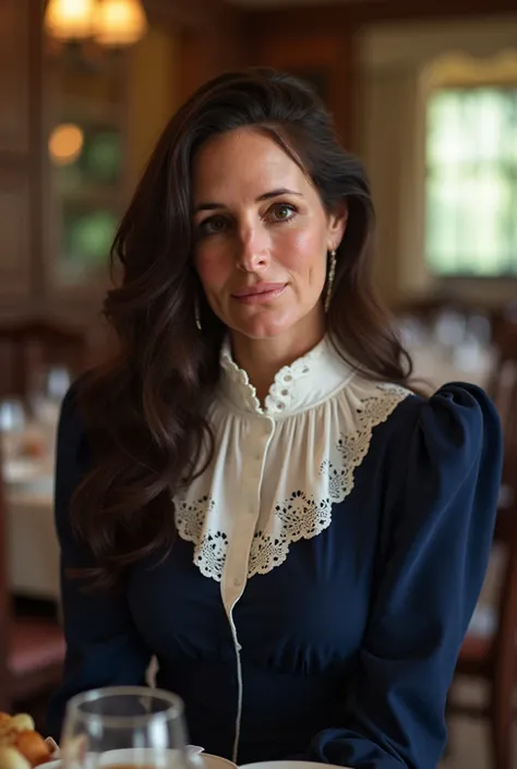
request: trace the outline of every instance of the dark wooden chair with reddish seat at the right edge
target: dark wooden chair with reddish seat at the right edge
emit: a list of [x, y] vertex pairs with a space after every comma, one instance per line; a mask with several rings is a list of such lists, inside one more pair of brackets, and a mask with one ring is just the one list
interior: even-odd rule
[[501, 416], [505, 436], [505, 467], [494, 541], [506, 563], [490, 635], [467, 635], [455, 683], [484, 681], [489, 701], [484, 707], [458, 702], [453, 684], [447, 711], [486, 718], [490, 723], [494, 769], [513, 769], [514, 694], [517, 676], [517, 325], [502, 324], [494, 339], [498, 352], [490, 392]]

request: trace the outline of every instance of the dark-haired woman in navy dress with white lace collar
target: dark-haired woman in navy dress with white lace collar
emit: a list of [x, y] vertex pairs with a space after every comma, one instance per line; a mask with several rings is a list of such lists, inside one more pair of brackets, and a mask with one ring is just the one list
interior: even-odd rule
[[224, 75], [166, 128], [113, 247], [120, 352], [62, 409], [53, 735], [71, 695], [156, 657], [211, 753], [436, 765], [501, 435], [480, 389], [409, 389], [371, 228], [292, 77]]

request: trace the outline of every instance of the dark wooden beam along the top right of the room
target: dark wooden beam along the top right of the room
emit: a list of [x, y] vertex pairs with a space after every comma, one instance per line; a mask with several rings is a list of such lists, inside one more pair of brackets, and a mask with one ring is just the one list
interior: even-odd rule
[[438, 21], [517, 14], [516, 0], [363, 0], [245, 11], [247, 27], [263, 34], [325, 33], [395, 21]]

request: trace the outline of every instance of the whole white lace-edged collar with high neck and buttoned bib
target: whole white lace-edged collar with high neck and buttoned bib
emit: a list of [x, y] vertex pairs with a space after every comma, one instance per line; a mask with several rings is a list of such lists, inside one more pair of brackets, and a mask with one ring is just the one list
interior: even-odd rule
[[278, 372], [264, 409], [227, 347], [221, 367], [211, 413], [215, 453], [175, 498], [175, 516], [194, 564], [221, 582], [229, 610], [248, 579], [281, 566], [296, 542], [330, 526], [374, 428], [409, 392], [364, 379], [327, 339]]

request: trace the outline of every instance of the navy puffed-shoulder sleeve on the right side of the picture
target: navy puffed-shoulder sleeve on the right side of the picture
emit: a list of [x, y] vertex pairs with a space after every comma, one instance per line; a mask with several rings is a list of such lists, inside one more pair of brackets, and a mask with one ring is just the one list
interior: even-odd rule
[[393, 414], [370, 620], [342, 728], [309, 756], [356, 769], [434, 769], [445, 701], [484, 578], [502, 472], [497, 413], [479, 388], [409, 396]]

